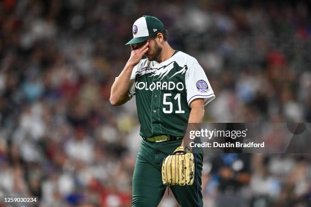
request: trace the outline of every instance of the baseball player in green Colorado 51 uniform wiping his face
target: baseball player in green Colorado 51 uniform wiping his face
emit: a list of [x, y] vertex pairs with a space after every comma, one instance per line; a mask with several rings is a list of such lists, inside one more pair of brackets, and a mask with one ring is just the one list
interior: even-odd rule
[[213, 90], [198, 61], [170, 47], [158, 18], [137, 19], [133, 37], [126, 44], [131, 56], [110, 96], [119, 106], [136, 95], [143, 140], [133, 175], [133, 206], [158, 206], [167, 186], [182, 207], [203, 206], [203, 154], [186, 147], [183, 137], [186, 123], [202, 122]]

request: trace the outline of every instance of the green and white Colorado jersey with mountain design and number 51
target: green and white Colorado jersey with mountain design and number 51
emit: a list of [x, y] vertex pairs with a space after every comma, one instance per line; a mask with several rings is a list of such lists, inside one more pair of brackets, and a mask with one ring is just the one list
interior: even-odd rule
[[140, 135], [183, 136], [191, 101], [215, 98], [209, 81], [196, 58], [180, 51], [161, 63], [142, 59], [133, 69], [135, 80], [129, 96], [136, 95]]

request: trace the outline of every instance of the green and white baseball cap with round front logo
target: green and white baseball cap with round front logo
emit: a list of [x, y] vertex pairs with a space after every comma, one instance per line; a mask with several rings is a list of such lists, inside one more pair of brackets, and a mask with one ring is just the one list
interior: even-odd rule
[[126, 45], [142, 43], [162, 30], [164, 25], [157, 17], [144, 15], [134, 22], [133, 39]]

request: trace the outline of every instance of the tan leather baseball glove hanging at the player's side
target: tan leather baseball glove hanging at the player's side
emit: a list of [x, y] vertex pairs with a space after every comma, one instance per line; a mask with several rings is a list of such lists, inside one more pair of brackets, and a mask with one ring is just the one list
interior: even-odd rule
[[[176, 155], [183, 152], [182, 155]], [[191, 149], [178, 147], [173, 155], [167, 156], [162, 163], [163, 185], [193, 185], [194, 182], [194, 156]]]

